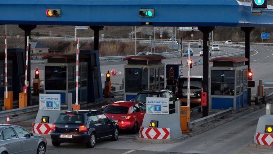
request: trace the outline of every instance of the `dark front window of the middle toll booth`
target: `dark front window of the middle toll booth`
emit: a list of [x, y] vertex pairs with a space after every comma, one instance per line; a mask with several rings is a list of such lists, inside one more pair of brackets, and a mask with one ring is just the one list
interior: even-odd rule
[[125, 68], [125, 92], [139, 92], [147, 88], [145, 81], [147, 80], [147, 73], [145, 71], [147, 69]]

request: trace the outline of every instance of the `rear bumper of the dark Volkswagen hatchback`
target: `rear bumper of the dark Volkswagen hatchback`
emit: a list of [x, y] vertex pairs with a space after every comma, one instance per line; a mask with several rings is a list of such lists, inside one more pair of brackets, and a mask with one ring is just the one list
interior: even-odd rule
[[[60, 138], [61, 134], [72, 135], [72, 138]], [[87, 143], [89, 140], [88, 133], [86, 134], [69, 134], [69, 133], [51, 133], [51, 140], [60, 143]]]

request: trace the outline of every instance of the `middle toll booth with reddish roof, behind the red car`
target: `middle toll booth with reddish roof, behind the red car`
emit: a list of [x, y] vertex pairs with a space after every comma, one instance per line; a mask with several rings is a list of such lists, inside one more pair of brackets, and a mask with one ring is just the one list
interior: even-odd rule
[[143, 89], [164, 89], [163, 56], [150, 54], [130, 56], [128, 64], [124, 65], [124, 100], [134, 99]]

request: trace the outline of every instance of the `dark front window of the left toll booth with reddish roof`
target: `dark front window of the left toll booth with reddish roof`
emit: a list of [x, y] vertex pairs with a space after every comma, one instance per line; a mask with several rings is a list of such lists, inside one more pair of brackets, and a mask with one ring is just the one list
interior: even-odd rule
[[66, 90], [66, 67], [45, 67], [45, 89]]

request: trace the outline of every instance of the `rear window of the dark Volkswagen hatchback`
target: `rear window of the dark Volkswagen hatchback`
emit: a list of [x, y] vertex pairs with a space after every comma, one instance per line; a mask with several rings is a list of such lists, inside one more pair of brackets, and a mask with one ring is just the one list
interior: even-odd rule
[[59, 124], [83, 124], [82, 114], [60, 114], [55, 123]]

